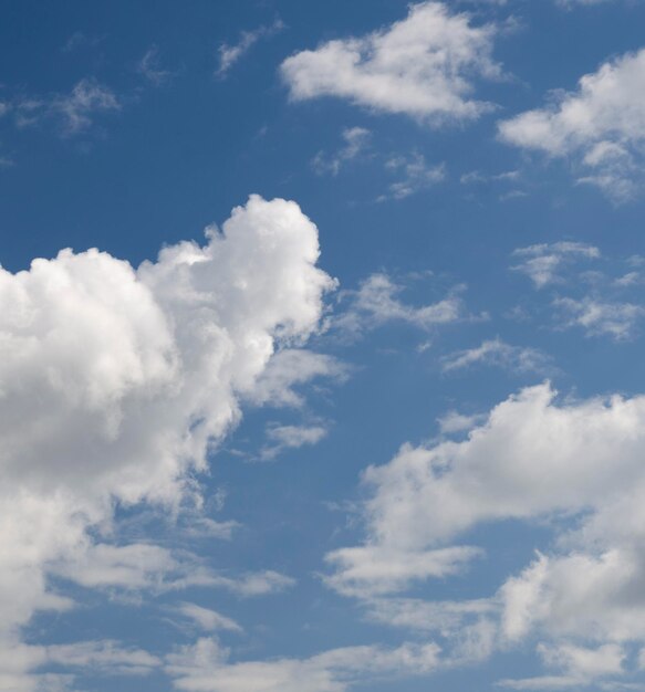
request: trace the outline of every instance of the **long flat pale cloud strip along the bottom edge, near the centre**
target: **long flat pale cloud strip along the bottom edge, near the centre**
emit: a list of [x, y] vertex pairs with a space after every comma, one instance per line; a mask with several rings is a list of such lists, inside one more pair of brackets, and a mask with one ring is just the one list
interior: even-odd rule
[[436, 644], [333, 649], [304, 659], [230, 663], [215, 639], [200, 639], [166, 657], [177, 690], [201, 692], [345, 692], [365, 678], [425, 674], [437, 667]]

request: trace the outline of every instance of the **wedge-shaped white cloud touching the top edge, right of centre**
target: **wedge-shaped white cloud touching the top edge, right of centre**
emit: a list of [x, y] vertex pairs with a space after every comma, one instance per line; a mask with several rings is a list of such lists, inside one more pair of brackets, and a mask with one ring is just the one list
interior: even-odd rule
[[385, 29], [288, 57], [281, 73], [293, 101], [335, 96], [433, 125], [467, 122], [493, 108], [471, 94], [476, 77], [501, 76], [491, 56], [496, 31], [440, 2], [420, 2]]

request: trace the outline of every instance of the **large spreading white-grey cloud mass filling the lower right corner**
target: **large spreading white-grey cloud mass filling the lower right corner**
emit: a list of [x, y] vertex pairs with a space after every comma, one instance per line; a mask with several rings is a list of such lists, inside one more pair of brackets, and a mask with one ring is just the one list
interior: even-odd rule
[[[644, 422], [643, 396], [560, 402], [544, 384], [499, 403], [464, 441], [404, 445], [365, 471], [366, 541], [329, 555], [327, 585], [360, 598], [378, 621], [437, 631], [445, 661], [537, 640], [549, 674], [504, 686], [582, 686], [633, 672], [626, 653], [645, 644]], [[455, 544], [472, 527], [545, 518], [550, 552], [503, 577], [497, 593], [456, 602], [398, 595], [486, 559], [477, 546]], [[386, 559], [375, 562], [378, 554]], [[448, 570], [416, 572], [431, 555], [445, 555]], [[422, 621], [424, 611], [435, 619]]]

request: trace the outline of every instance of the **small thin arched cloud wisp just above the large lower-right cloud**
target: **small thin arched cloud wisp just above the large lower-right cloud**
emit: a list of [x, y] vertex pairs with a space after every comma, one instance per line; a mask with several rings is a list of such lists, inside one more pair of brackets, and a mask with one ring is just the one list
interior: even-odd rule
[[458, 350], [441, 358], [445, 373], [476, 364], [492, 365], [514, 373], [539, 373], [549, 367], [549, 358], [537, 348], [511, 346], [500, 338], [482, 342], [476, 348]]

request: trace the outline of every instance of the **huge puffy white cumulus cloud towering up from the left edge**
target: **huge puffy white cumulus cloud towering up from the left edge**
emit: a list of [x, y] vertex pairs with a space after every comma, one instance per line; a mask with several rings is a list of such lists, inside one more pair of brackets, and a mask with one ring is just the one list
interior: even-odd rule
[[[297, 203], [251, 196], [205, 245], [164, 248], [136, 270], [97, 250], [0, 270], [1, 649], [34, 612], [71, 607], [52, 570], [144, 588], [173, 572], [168, 552], [97, 544], [90, 530], [115, 506], [178, 510], [199, 493], [194, 474], [275, 350], [318, 328], [334, 286], [318, 256]], [[242, 595], [289, 581], [219, 580]]]

